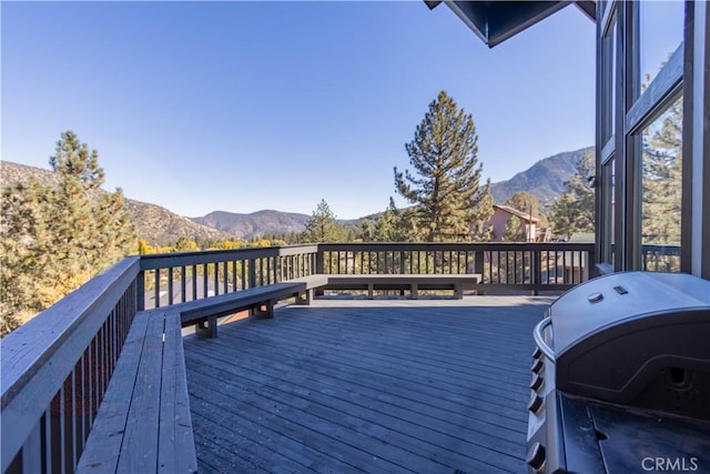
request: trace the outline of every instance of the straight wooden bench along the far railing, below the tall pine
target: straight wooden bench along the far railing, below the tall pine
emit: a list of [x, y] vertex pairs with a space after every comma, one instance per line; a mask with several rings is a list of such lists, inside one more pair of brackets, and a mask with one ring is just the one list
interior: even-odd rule
[[419, 290], [454, 290], [454, 295], [460, 300], [464, 290], [474, 289], [480, 283], [479, 274], [423, 275], [423, 274], [389, 274], [389, 275], [327, 275], [328, 290], [367, 290], [367, 297], [373, 299], [374, 290], [409, 290], [412, 297], [418, 297]]

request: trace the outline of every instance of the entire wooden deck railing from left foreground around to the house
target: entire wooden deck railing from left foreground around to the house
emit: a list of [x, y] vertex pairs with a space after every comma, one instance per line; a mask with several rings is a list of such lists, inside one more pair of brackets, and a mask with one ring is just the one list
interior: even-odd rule
[[73, 473], [133, 316], [316, 273], [479, 273], [532, 291], [580, 283], [592, 244], [355, 243], [126, 258], [0, 341], [2, 472]]

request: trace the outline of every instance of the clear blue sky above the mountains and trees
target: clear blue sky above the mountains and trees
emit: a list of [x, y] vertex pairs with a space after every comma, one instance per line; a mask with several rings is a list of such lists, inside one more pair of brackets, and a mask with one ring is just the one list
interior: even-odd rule
[[439, 90], [494, 182], [594, 143], [595, 26], [574, 7], [494, 49], [422, 1], [1, 8], [2, 159], [49, 168], [73, 130], [106, 189], [182, 215], [384, 210]]

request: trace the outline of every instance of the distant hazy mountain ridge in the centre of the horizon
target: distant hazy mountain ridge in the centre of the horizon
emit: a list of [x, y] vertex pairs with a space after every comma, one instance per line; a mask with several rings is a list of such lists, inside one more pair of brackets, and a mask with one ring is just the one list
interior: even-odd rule
[[191, 218], [193, 222], [229, 233], [240, 239], [252, 239], [267, 234], [303, 232], [311, 219], [306, 214], [264, 210], [251, 214], [214, 211], [202, 218]]

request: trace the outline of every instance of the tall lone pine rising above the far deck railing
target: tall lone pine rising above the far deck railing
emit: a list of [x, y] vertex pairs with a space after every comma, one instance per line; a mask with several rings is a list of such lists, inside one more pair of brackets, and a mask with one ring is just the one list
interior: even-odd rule
[[493, 215], [490, 182], [480, 186], [483, 167], [476, 142], [473, 117], [439, 92], [414, 140], [405, 145], [415, 173], [394, 170], [396, 190], [415, 204], [426, 241], [468, 239], [471, 225]]

